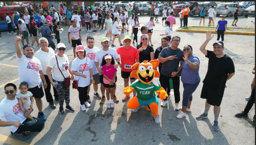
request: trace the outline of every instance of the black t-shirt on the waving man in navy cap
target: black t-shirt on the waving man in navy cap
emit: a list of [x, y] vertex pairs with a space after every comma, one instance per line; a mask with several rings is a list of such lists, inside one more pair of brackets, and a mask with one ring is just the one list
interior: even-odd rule
[[235, 72], [233, 60], [225, 54], [223, 57], [218, 58], [213, 51], [207, 50], [208, 70], [203, 81], [210, 87], [216, 89], [225, 87], [228, 74]]

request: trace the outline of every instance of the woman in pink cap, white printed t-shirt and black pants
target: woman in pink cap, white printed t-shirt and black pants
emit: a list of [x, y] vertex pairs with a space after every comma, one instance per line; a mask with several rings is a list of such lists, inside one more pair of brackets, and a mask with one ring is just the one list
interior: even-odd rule
[[[81, 110], [85, 111], [91, 105], [88, 103], [87, 89], [88, 86], [93, 83], [91, 60], [86, 57], [85, 49], [82, 45], [77, 46], [77, 57], [72, 61], [72, 73], [75, 75], [74, 80], [78, 81], [79, 100], [81, 104]], [[90, 78], [89, 78], [90, 76]], [[90, 102], [90, 101], [89, 101]]]

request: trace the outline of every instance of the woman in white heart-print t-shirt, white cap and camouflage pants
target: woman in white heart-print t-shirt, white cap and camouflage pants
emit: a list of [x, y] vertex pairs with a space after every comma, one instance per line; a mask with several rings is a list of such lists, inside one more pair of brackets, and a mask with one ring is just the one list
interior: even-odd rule
[[[64, 81], [65, 78], [67, 78], [67, 80], [68, 78], [70, 78], [70, 74], [71, 74], [71, 80], [74, 79], [74, 75], [72, 74], [72, 71], [69, 68], [68, 56], [65, 54], [66, 46], [63, 43], [59, 43], [57, 45], [56, 50], [57, 50], [57, 54], [52, 56], [48, 62], [46, 73], [51, 82], [51, 85], [55, 87], [58, 92], [59, 105], [60, 105], [59, 112], [61, 114], [65, 113], [63, 109], [64, 99], [66, 102], [66, 110], [74, 112], [74, 109], [69, 105], [70, 81], [69, 82]], [[52, 70], [52, 75], [51, 75], [51, 70]]]

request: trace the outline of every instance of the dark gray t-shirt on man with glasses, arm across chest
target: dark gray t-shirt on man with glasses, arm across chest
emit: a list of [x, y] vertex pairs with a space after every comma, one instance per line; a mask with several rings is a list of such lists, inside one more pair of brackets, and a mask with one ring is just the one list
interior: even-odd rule
[[176, 55], [177, 58], [175, 58], [174, 60], [167, 60], [163, 63], [162, 69], [161, 69], [161, 74], [171, 77], [172, 72], [178, 71], [180, 61], [184, 61], [184, 59], [182, 58], [182, 57], [184, 57], [184, 53], [179, 48], [177, 48], [176, 50], [173, 50], [169, 46], [169, 47], [165, 47], [161, 50], [161, 52], [159, 54], [160, 57], [166, 58], [166, 57], [174, 56], [174, 55]]

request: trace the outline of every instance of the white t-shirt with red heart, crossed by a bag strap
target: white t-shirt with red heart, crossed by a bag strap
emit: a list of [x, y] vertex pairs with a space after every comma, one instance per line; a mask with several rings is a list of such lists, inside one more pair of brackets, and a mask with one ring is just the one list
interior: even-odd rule
[[[57, 56], [59, 68], [62, 74], [64, 75], [65, 78], [68, 78], [70, 75], [68, 71], [68, 67], [69, 67], [68, 56], [66, 54], [64, 54], [64, 57], [59, 57], [58, 55], [56, 56]], [[57, 81], [64, 81], [64, 78], [57, 66], [55, 55], [50, 58], [47, 66], [52, 68], [52, 79]]]

